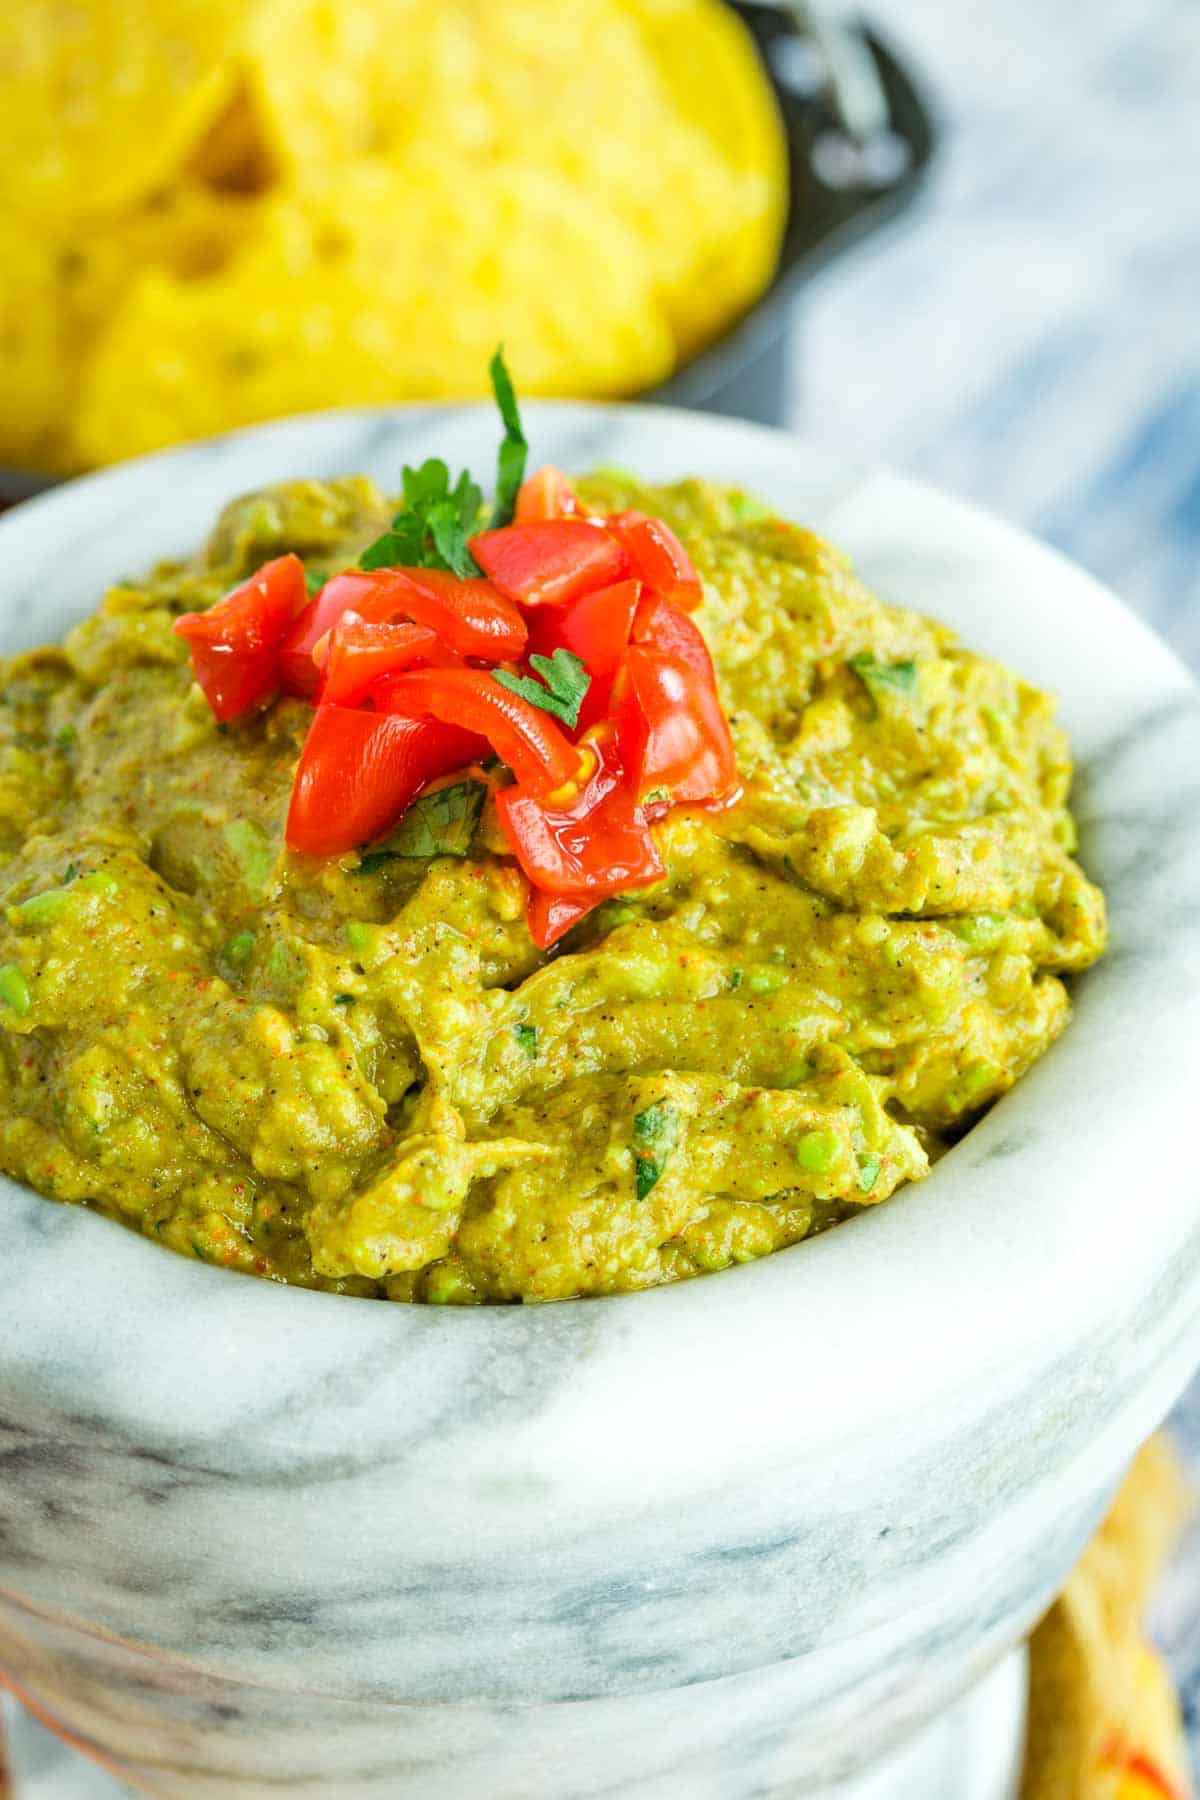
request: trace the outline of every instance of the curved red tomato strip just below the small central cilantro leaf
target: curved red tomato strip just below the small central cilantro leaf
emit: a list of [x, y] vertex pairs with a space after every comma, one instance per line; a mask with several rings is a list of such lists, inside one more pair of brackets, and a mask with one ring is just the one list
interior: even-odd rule
[[484, 670], [396, 675], [376, 704], [408, 718], [439, 718], [477, 731], [516, 779], [536, 794], [563, 787], [579, 767], [579, 752], [549, 713], [509, 693]]

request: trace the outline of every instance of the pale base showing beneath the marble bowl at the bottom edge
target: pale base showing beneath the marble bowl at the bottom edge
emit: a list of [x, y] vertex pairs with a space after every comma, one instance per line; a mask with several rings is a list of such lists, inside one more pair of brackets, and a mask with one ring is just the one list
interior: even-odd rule
[[[77, 1757], [14, 1701], [2, 1705], [13, 1800], [137, 1800], [133, 1787]], [[788, 1800], [1016, 1800], [1024, 1714], [1025, 1652], [1016, 1651], [957, 1706], [867, 1775]], [[398, 1793], [396, 1800], [405, 1796]], [[527, 1800], [556, 1796], [529, 1795]], [[743, 1800], [743, 1795], [730, 1787], [727, 1800]]]

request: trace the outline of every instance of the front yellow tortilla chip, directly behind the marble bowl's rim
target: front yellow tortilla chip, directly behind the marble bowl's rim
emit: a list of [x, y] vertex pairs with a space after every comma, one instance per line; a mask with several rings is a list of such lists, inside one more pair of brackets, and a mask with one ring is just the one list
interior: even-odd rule
[[[430, 166], [417, 191], [414, 207], [407, 175], [351, 167], [320, 198], [266, 205], [228, 268], [139, 275], [83, 382], [76, 457], [329, 405], [482, 392], [500, 338], [527, 394], [619, 392], [669, 369], [637, 245], [560, 178], [516, 166], [495, 194], [453, 193]], [[443, 207], [461, 225], [450, 239]]]

